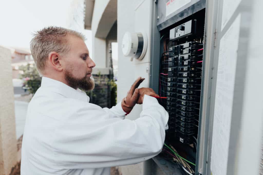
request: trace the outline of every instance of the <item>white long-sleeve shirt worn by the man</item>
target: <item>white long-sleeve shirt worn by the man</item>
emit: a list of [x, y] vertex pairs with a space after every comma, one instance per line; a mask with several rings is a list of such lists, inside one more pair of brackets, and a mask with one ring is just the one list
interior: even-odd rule
[[28, 105], [22, 142], [21, 175], [109, 175], [110, 167], [135, 164], [163, 146], [168, 113], [145, 95], [136, 120], [54, 79], [42, 78]]

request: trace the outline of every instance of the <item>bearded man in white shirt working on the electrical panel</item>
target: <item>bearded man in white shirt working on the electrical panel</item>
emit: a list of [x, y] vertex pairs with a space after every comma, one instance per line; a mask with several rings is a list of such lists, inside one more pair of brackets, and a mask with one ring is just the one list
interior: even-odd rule
[[[84, 36], [48, 27], [31, 41], [41, 87], [28, 105], [22, 142], [22, 175], [109, 175], [110, 167], [135, 164], [157, 155], [164, 143], [168, 113], [138, 78], [121, 103], [111, 109], [89, 103], [78, 88], [91, 90], [95, 63]], [[134, 105], [140, 117], [124, 119]]]

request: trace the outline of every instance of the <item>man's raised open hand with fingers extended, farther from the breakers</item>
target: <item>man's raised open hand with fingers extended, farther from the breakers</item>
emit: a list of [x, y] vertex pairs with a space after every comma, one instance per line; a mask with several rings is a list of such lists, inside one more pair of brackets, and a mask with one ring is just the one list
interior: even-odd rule
[[122, 100], [122, 109], [129, 114], [131, 109], [136, 104], [139, 98], [139, 85], [143, 82], [144, 78], [139, 77], [131, 86], [130, 90], [127, 93], [127, 96]]

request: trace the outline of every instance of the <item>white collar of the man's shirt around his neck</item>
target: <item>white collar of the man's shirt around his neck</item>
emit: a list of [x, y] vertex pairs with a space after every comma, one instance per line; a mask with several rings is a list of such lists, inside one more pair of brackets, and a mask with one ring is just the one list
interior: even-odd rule
[[89, 102], [89, 96], [87, 96], [87, 94], [84, 91], [81, 91], [80, 89], [76, 90], [65, 83], [51, 78], [42, 77], [41, 87], [49, 88], [51, 89], [51, 91], [59, 93], [60, 95], [67, 98], [73, 98], [82, 100], [84, 102]]

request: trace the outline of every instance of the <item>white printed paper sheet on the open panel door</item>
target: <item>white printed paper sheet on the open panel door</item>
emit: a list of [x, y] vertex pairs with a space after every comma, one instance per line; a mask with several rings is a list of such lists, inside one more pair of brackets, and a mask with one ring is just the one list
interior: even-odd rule
[[220, 40], [211, 152], [213, 175], [226, 175], [240, 19], [239, 14]]

